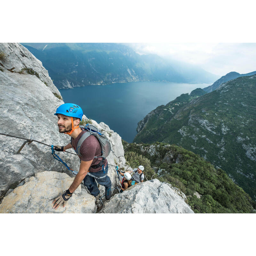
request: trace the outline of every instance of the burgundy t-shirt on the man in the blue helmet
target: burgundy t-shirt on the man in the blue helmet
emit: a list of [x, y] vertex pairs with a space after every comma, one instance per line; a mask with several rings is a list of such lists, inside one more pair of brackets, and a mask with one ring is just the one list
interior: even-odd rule
[[[76, 149], [76, 145], [78, 140], [80, 139], [80, 137], [87, 131], [82, 131], [79, 133], [79, 135], [76, 137], [76, 139], [72, 138], [72, 146], [73, 148]], [[87, 137], [84, 142], [82, 143], [81, 147], [80, 147], [80, 154], [82, 155], [79, 156], [79, 158], [82, 161], [92, 161], [91, 166], [93, 165], [97, 165], [100, 163], [100, 161], [102, 160], [102, 157], [99, 158], [94, 158], [94, 156], [101, 156], [101, 150], [100, 150], [100, 142], [97, 140], [97, 138], [94, 135], [90, 135], [89, 137]], [[106, 166], [108, 163], [107, 159], [105, 159], [104, 165]], [[102, 166], [99, 166], [96, 169], [93, 168], [89, 168], [90, 172], [98, 172], [102, 170]]]

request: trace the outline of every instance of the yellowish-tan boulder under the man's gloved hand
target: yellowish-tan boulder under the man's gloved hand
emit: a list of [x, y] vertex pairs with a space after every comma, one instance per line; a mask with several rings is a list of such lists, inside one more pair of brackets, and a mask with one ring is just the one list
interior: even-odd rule
[[52, 209], [52, 200], [68, 188], [74, 178], [66, 173], [39, 172], [27, 178], [25, 184], [4, 197], [0, 213], [95, 213], [95, 197], [81, 185], [75, 190], [65, 207]]

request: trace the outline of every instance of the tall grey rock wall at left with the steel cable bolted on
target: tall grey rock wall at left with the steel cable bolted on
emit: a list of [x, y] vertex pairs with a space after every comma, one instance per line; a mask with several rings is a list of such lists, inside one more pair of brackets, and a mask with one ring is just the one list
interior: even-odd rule
[[[69, 136], [58, 132], [57, 117], [53, 115], [64, 102], [53, 95], [59, 91], [42, 63], [20, 44], [0, 44], [0, 51], [6, 54], [4, 72], [0, 72], [1, 133], [48, 145], [68, 144]], [[7, 70], [12, 67], [19, 70], [24, 65], [35, 70], [49, 86], [35, 75]], [[50, 147], [36, 142], [26, 144], [20, 154], [16, 154], [24, 141], [0, 135], [0, 198], [11, 185], [15, 187], [36, 172], [66, 169], [52, 157]], [[71, 163], [72, 169], [78, 168], [79, 160], [75, 155], [63, 152], [59, 155], [63, 161]]]

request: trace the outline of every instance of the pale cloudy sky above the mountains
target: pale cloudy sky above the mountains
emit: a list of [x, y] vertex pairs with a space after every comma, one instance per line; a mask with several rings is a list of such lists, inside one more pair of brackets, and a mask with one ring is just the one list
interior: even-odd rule
[[223, 76], [256, 70], [256, 43], [134, 43], [128, 44], [139, 54], [159, 56], [200, 66]]

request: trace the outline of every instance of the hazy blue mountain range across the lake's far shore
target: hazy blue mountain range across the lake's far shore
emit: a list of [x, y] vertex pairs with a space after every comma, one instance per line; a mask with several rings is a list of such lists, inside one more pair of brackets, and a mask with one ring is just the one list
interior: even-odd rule
[[157, 55], [139, 55], [124, 44], [24, 43], [42, 61], [58, 88], [132, 81], [211, 83], [217, 76]]

